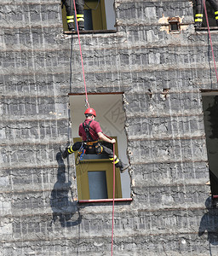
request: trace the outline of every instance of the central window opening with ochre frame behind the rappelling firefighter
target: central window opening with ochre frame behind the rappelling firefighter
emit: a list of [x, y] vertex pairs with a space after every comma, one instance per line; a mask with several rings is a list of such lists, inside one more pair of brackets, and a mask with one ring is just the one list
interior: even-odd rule
[[[70, 112], [72, 119], [72, 137], [73, 143], [77, 142], [78, 125], [84, 120], [84, 95], [70, 94]], [[126, 155], [127, 137], [124, 131], [125, 114], [123, 111], [122, 94], [106, 94], [106, 95], [91, 95], [89, 94], [89, 104], [95, 108], [95, 120], [100, 123], [102, 131], [109, 137], [115, 138], [115, 154], [123, 163], [128, 164], [129, 159]], [[100, 142], [101, 143], [101, 142]], [[112, 147], [111, 143], [102, 142], [107, 148]], [[77, 154], [76, 154], [77, 155]], [[76, 156], [75, 155], [75, 156]], [[95, 199], [96, 195], [90, 187], [90, 183], [98, 183], [97, 178], [103, 181], [106, 193], [102, 187], [99, 188], [98, 199], [112, 199], [112, 161], [103, 155], [84, 154], [81, 164], [76, 166], [77, 173], [77, 193], [79, 200]], [[102, 173], [105, 172], [106, 182]], [[98, 185], [98, 184], [97, 184]], [[101, 186], [102, 184], [100, 184]], [[94, 194], [93, 194], [94, 193]], [[130, 197], [130, 178], [129, 172], [120, 173], [116, 168], [116, 193], [115, 198]]]

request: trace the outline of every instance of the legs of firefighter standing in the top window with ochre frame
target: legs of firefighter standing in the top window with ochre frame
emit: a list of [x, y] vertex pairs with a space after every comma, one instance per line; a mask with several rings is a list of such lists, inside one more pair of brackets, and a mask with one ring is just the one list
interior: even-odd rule
[[[66, 7], [66, 22], [69, 31], [75, 31], [74, 25], [74, 0], [61, 0]], [[75, 0], [77, 9], [78, 30], [84, 30], [84, 0]]]

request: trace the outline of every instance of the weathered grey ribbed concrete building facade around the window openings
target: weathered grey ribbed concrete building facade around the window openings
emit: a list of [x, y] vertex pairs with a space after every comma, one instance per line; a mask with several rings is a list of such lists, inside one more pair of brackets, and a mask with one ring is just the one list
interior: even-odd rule
[[[217, 88], [207, 32], [195, 32], [189, 1], [115, 7], [118, 32], [80, 37], [89, 92], [124, 96], [133, 201], [116, 203], [114, 255], [216, 254], [217, 212], [204, 206], [200, 89]], [[170, 33], [175, 16], [184, 26]], [[73, 160], [59, 154], [68, 94], [84, 92], [77, 36], [62, 34], [57, 0], [2, 0], [0, 20], [0, 254], [110, 255], [112, 204], [78, 205]], [[212, 41], [217, 58], [217, 32]]]

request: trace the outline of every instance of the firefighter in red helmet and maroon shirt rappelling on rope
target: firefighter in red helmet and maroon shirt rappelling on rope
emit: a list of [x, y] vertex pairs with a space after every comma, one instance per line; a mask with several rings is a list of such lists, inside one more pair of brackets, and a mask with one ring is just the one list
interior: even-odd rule
[[[99, 143], [99, 139], [105, 141], [106, 143], [116, 143], [115, 139], [110, 139], [106, 137], [100, 128], [100, 124], [95, 121], [95, 109], [87, 108], [85, 111], [86, 119], [82, 124], [79, 125], [78, 135], [82, 138], [83, 142], [77, 142], [73, 145], [65, 147], [60, 147], [60, 153], [65, 159], [69, 154], [79, 150], [81, 148], [85, 150], [85, 154], [105, 154], [113, 162], [113, 151], [106, 146], [103, 146]], [[120, 169], [120, 172], [123, 173], [129, 165], [124, 165], [121, 160], [114, 155], [115, 166]]]

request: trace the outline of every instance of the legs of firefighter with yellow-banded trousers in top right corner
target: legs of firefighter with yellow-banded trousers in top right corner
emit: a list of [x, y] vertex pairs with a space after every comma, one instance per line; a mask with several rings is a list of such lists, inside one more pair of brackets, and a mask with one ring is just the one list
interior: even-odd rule
[[[194, 17], [195, 27], [201, 27], [203, 22], [204, 0], [196, 0], [196, 14]], [[206, 1], [206, 0], [205, 0]], [[215, 11], [215, 22], [218, 26], [218, 0], [209, 0], [210, 6]]]

